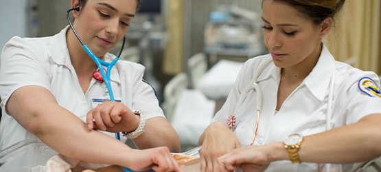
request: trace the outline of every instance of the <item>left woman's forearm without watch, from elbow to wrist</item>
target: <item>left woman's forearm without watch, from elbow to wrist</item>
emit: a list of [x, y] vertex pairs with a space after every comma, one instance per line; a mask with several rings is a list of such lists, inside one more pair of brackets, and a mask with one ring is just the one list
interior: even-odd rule
[[57, 122], [50, 121], [51, 124], [40, 129], [36, 136], [69, 158], [101, 164], [128, 165], [126, 162], [130, 147], [99, 131], [89, 131], [82, 120], [73, 117], [56, 120]]

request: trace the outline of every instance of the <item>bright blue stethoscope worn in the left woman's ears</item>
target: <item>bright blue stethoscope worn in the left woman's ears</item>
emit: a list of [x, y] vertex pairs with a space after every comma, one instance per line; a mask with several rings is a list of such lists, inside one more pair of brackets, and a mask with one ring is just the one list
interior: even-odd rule
[[[118, 56], [115, 57], [115, 59], [111, 63], [107, 63], [105, 61], [102, 61], [100, 58], [97, 58], [97, 56], [95, 56], [93, 52], [91, 52], [91, 50], [89, 49], [89, 47], [87, 47], [87, 45], [84, 45], [84, 43], [80, 39], [80, 36], [78, 36], [76, 30], [74, 30], [74, 27], [71, 24], [71, 21], [70, 21], [70, 18], [69, 18], [69, 12], [71, 12], [72, 10], [80, 11], [80, 8], [79, 7], [78, 8], [71, 8], [71, 9], [67, 10], [67, 12], [66, 12], [67, 21], [69, 21], [69, 25], [71, 27], [71, 30], [73, 30], [74, 34], [76, 34], [76, 37], [77, 37], [78, 41], [80, 41], [80, 43], [82, 44], [82, 47], [87, 52], [87, 54], [89, 54], [89, 56], [91, 58], [93, 58], [93, 61], [97, 64], [97, 67], [100, 69], [100, 73], [102, 74], [102, 78], [104, 80], [104, 83], [106, 83], [106, 88], [107, 88], [107, 91], [108, 91], [108, 95], [110, 96], [110, 100], [111, 101], [115, 101], [114, 94], [113, 94], [113, 89], [111, 88], [110, 73], [111, 73], [111, 68], [115, 65], [115, 63], [117, 63], [117, 61], [119, 60], [120, 54], [122, 54], [122, 51], [123, 51], [123, 48], [124, 48], [124, 42], [126, 41], [126, 36], [123, 36], [123, 44], [122, 44], [122, 48], [119, 51]], [[106, 74], [104, 73], [104, 70], [102, 70], [103, 69], [102, 66], [107, 67]], [[119, 133], [115, 133], [115, 138], [117, 138], [117, 140], [120, 140]]]

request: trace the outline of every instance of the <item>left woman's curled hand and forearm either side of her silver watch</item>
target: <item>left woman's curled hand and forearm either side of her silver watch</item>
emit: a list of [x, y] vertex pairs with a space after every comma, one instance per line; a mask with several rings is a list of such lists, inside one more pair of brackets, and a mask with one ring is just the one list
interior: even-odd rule
[[[114, 133], [121, 131], [130, 133], [139, 127], [140, 116], [135, 115], [122, 103], [105, 101], [89, 111], [86, 122], [90, 130], [100, 129]], [[171, 152], [180, 151], [180, 140], [177, 133], [165, 118], [150, 118], [146, 120], [143, 129], [144, 133], [132, 139], [138, 149], [165, 146]]]

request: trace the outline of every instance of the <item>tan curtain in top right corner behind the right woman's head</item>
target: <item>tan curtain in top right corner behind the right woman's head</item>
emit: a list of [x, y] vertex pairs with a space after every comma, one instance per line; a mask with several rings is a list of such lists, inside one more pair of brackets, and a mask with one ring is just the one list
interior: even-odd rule
[[380, 0], [348, 0], [323, 41], [336, 60], [381, 74], [380, 18]]

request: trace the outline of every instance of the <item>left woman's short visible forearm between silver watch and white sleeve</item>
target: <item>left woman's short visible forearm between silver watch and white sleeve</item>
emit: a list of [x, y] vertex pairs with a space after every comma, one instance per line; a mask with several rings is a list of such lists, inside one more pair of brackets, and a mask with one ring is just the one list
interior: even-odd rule
[[[162, 125], [168, 123], [168, 125]], [[157, 125], [161, 124], [161, 125]], [[168, 147], [171, 152], [180, 151], [180, 140], [173, 127], [165, 118], [152, 118], [146, 120], [144, 133], [132, 141], [137, 149], [148, 149], [152, 147]]]

